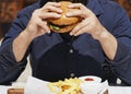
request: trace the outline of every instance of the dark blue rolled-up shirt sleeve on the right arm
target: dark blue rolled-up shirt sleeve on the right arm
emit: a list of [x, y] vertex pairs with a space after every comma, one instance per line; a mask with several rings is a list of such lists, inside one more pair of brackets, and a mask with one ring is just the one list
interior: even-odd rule
[[131, 22], [123, 9], [116, 11], [114, 35], [118, 40], [116, 57], [111, 62], [115, 74], [131, 85]]

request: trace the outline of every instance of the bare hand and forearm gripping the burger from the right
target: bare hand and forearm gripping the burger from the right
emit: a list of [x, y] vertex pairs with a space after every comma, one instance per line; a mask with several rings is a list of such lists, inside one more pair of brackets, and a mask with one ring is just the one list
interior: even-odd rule
[[79, 8], [79, 11], [67, 13], [67, 16], [81, 16], [83, 21], [78, 24], [70, 35], [79, 36], [83, 33], [91, 34], [94, 39], [97, 39], [107, 58], [114, 60], [117, 51], [117, 39], [109, 33], [98, 21], [96, 15], [82, 3], [73, 3], [69, 8]]

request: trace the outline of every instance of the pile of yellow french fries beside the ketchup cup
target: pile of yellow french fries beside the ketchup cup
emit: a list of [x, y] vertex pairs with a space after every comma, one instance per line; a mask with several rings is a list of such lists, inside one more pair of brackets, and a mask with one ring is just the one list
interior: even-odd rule
[[82, 81], [78, 78], [66, 79], [64, 81], [47, 83], [51, 92], [56, 94], [81, 94], [80, 84]]

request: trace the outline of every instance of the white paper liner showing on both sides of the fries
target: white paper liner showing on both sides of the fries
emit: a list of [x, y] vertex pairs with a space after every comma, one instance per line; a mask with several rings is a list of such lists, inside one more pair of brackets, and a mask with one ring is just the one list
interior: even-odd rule
[[[24, 87], [24, 94], [55, 94], [49, 90], [47, 83], [48, 83], [47, 81], [43, 81], [34, 77], [28, 77]], [[103, 83], [91, 82], [81, 84], [81, 90], [84, 94], [104, 94], [104, 92], [107, 89], [108, 89], [107, 81]]]

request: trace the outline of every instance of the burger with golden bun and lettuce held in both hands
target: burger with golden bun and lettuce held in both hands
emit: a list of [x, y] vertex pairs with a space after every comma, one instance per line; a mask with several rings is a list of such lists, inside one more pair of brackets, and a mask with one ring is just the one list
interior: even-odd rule
[[66, 13], [71, 11], [76, 11], [79, 9], [69, 9], [68, 5], [70, 5], [72, 2], [70, 1], [60, 1], [61, 4], [60, 9], [62, 10], [61, 16], [59, 19], [48, 19], [48, 25], [52, 32], [57, 33], [68, 33], [71, 30], [74, 28], [74, 26], [81, 22], [81, 17], [79, 16], [71, 16], [67, 17]]

